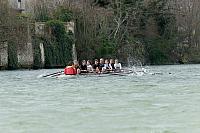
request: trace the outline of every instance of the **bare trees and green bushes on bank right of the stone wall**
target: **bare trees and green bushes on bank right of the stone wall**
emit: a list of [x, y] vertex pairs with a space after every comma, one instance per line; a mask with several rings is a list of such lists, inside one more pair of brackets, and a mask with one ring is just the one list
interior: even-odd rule
[[[195, 32], [198, 18], [191, 17], [189, 28], [183, 27], [188, 24], [184, 19], [189, 15], [181, 11], [185, 6], [180, 3], [167, 0], [95, 0], [92, 6], [84, 5], [86, 8], [77, 15], [79, 57], [117, 57], [125, 62], [132, 58], [143, 64], [198, 62], [199, 32]], [[195, 8], [190, 10], [188, 14], [198, 14]]]

